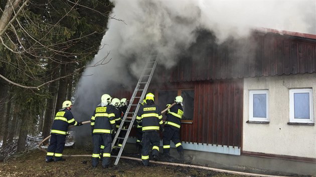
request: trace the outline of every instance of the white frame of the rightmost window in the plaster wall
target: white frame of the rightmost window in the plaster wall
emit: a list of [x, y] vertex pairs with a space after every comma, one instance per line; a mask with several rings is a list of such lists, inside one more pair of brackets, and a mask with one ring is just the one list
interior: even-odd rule
[[[295, 118], [294, 116], [294, 93], [309, 93], [309, 119]], [[312, 88], [289, 89], [289, 122], [291, 123], [313, 123], [313, 95]]]

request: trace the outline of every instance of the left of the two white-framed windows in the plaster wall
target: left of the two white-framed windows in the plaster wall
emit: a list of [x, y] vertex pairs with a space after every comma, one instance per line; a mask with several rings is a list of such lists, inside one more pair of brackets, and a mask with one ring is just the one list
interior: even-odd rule
[[269, 121], [268, 90], [249, 91], [249, 121]]

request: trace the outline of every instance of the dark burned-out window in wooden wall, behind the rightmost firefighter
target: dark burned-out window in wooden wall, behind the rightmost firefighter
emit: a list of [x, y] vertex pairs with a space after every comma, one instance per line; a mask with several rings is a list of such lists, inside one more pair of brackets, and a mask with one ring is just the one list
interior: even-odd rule
[[[178, 90], [160, 90], [158, 91], [157, 105], [161, 110], [166, 108], [166, 105], [173, 103], [175, 97], [181, 95], [183, 97], [183, 110], [182, 122], [192, 122], [194, 113], [194, 89], [178, 89]], [[163, 119], [166, 119], [166, 115], [163, 114]]]

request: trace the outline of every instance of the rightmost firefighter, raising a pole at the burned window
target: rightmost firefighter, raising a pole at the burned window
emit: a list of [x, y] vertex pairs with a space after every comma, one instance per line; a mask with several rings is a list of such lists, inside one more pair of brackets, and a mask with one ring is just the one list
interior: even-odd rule
[[[181, 126], [181, 118], [183, 115], [183, 98], [182, 96], [177, 96], [175, 98], [175, 104], [173, 107], [167, 110], [167, 119], [165, 121], [165, 131], [163, 135], [163, 145], [164, 152], [163, 156], [170, 156], [170, 140], [172, 140], [176, 147], [177, 151], [180, 154], [180, 159], [184, 159], [184, 150], [180, 140], [180, 126]], [[171, 104], [167, 104], [167, 107]]]

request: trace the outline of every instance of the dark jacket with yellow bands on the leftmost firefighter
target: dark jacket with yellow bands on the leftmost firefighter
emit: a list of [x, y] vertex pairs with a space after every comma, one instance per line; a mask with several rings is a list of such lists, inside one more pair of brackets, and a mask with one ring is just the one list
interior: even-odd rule
[[71, 111], [67, 108], [60, 109], [54, 118], [51, 134], [67, 135], [69, 124], [78, 125], [78, 122], [74, 119]]

